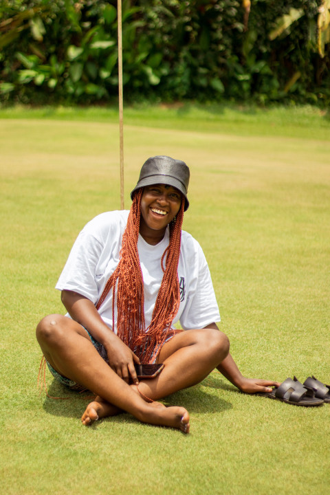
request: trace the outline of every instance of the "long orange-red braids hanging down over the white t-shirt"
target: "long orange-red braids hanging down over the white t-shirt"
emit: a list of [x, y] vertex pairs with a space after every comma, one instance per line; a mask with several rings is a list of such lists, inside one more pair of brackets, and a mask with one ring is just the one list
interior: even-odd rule
[[[114, 329], [115, 287], [117, 285], [118, 337], [139, 356], [141, 362], [146, 363], [155, 360], [165, 340], [177, 333], [175, 329], [171, 329], [170, 325], [172, 325], [180, 305], [177, 266], [181, 246], [181, 225], [184, 220], [184, 198], [182, 198], [181, 208], [176, 219], [169, 225], [170, 242], [161, 261], [164, 275], [153, 309], [153, 318], [146, 329], [143, 277], [137, 252], [142, 192], [142, 188], [137, 190], [133, 198], [126, 229], [122, 236], [120, 261], [107, 281], [96, 309], [100, 308], [112, 287]], [[164, 259], [166, 259], [165, 268]]]

